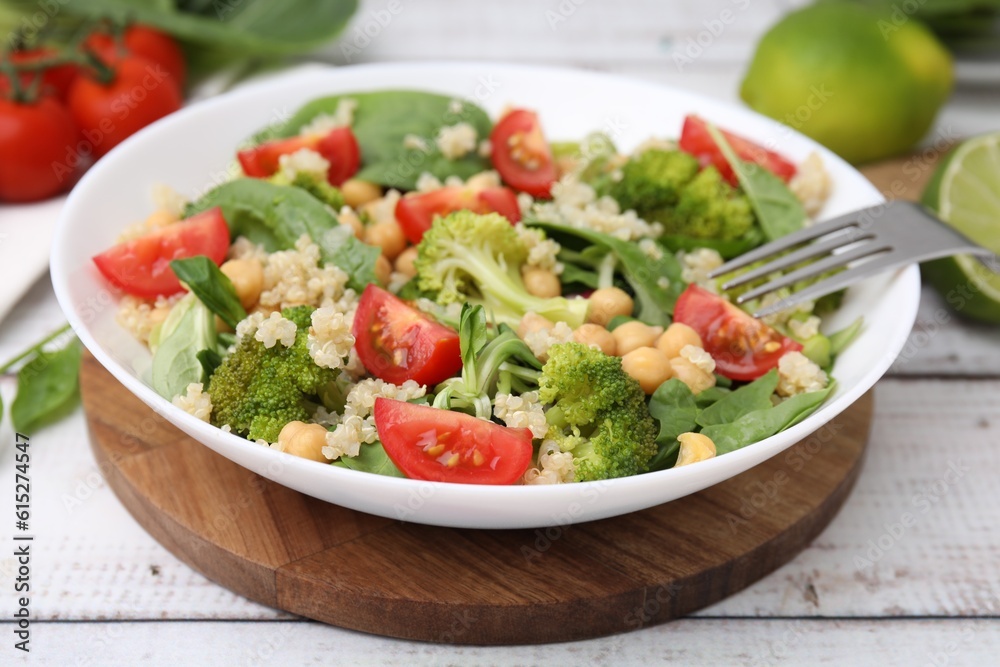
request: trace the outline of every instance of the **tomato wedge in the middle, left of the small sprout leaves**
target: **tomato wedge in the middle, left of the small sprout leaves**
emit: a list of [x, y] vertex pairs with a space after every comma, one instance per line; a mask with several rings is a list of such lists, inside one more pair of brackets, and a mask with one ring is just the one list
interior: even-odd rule
[[453, 329], [376, 285], [361, 293], [351, 333], [361, 363], [386, 382], [434, 385], [462, 368]]

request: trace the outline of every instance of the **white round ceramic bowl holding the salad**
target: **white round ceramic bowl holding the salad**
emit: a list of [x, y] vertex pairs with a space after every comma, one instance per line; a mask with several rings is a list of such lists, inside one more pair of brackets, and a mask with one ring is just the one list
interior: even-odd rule
[[[902, 348], [916, 315], [915, 266], [852, 288], [826, 326], [859, 315], [865, 329], [837, 360], [836, 393], [793, 428], [693, 466], [636, 477], [559, 486], [490, 487], [422, 482], [345, 470], [281, 454], [224, 433], [175, 408], [149, 386], [149, 353], [115, 323], [117, 294], [90, 258], [127, 224], [152, 210], [151, 187], [195, 196], [217, 182], [234, 149], [320, 95], [409, 88], [472, 99], [496, 116], [508, 104], [537, 109], [553, 139], [610, 131], [629, 149], [657, 135], [676, 137], [697, 112], [795, 160], [818, 151], [833, 180], [823, 212], [832, 216], [882, 197], [857, 171], [784, 126], [742, 108], [664, 86], [569, 69], [494, 63], [416, 63], [317, 68], [279, 76], [184, 109], [128, 139], [80, 181], [66, 203], [52, 251], [52, 279], [84, 345], [130, 391], [191, 437], [269, 479], [331, 503], [418, 523], [527, 528], [590, 521], [665, 503], [739, 474], [800, 441], [867, 391]], [[183, 480], [178, 481], [183, 485]]]

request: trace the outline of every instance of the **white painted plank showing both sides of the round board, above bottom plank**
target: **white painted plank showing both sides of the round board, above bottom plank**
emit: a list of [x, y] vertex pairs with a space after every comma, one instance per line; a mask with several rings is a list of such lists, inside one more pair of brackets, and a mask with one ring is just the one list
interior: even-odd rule
[[[866, 467], [841, 515], [792, 563], [703, 613], [1000, 614], [998, 406], [997, 380], [883, 381]], [[0, 428], [0, 441], [12, 439], [8, 429]], [[276, 616], [192, 572], [135, 524], [100, 479], [80, 415], [39, 432], [32, 451], [39, 618]], [[945, 488], [952, 463], [961, 477]], [[11, 448], [4, 448], [0, 497], [11, 492], [11, 469]], [[907, 512], [913, 525], [887, 537]], [[869, 555], [869, 540], [889, 548]], [[2, 553], [7, 576], [13, 561]]]

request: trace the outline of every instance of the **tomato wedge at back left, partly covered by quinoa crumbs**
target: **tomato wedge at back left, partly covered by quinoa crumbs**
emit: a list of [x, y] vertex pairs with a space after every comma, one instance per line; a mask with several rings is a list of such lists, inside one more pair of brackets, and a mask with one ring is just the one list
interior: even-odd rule
[[267, 178], [280, 166], [282, 155], [308, 148], [316, 151], [330, 163], [326, 179], [330, 185], [340, 185], [358, 172], [361, 166], [361, 149], [349, 127], [335, 127], [326, 134], [301, 135], [288, 139], [266, 141], [259, 146], [240, 151], [236, 157], [243, 173], [254, 178]]

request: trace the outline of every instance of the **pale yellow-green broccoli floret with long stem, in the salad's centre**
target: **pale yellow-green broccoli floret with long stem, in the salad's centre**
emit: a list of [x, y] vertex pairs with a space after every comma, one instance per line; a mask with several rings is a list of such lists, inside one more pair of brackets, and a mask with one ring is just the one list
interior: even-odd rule
[[528, 293], [521, 280], [528, 248], [502, 215], [457, 211], [438, 218], [417, 248], [417, 285], [442, 305], [479, 304], [514, 327], [529, 311], [574, 329], [587, 315], [586, 299]]

